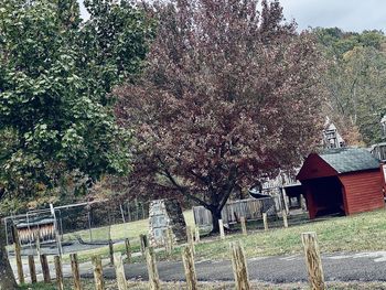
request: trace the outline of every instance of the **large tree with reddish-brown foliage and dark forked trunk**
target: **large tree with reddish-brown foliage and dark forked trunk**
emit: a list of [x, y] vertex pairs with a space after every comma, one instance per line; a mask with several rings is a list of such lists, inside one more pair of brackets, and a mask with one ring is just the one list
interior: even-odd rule
[[135, 192], [182, 194], [218, 230], [237, 187], [298, 165], [320, 140], [322, 65], [313, 39], [278, 1], [158, 4], [158, 37], [140, 79], [116, 89], [138, 146]]

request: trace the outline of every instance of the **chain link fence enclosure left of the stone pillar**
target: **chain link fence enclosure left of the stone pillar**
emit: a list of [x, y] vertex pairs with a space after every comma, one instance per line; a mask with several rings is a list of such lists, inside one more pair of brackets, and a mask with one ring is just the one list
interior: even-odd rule
[[[8, 250], [19, 236], [22, 255], [57, 255], [98, 248], [108, 245], [114, 226], [147, 218], [149, 203], [138, 200], [117, 203], [98, 202], [68, 204], [32, 211], [4, 218]], [[17, 232], [17, 233], [15, 233]]]

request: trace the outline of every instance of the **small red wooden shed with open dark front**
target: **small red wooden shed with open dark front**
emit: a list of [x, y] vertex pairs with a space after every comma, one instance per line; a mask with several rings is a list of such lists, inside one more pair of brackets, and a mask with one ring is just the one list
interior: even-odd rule
[[297, 179], [304, 189], [310, 218], [384, 207], [379, 161], [364, 149], [311, 153]]

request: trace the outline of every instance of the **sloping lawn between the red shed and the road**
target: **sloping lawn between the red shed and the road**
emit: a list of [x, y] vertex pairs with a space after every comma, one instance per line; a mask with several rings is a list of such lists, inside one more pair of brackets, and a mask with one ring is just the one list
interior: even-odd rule
[[196, 245], [197, 259], [227, 259], [229, 241], [240, 240], [247, 257], [302, 253], [301, 233], [317, 232], [322, 253], [386, 250], [386, 211], [334, 217], [289, 228], [232, 235]]

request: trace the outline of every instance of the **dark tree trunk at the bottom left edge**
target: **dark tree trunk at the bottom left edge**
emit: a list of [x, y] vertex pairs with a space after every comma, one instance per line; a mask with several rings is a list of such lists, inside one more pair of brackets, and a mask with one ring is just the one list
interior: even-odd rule
[[15, 290], [18, 284], [8, 259], [6, 246], [6, 229], [0, 216], [0, 290]]

